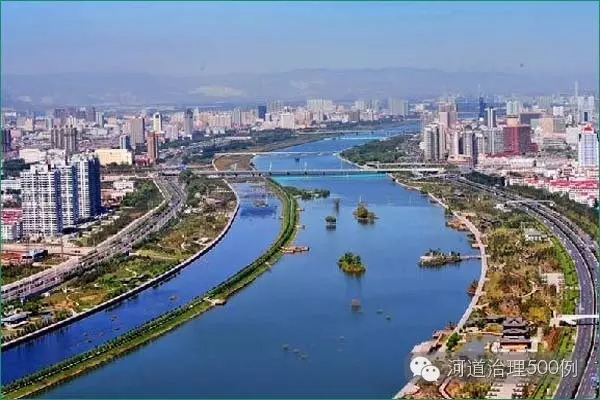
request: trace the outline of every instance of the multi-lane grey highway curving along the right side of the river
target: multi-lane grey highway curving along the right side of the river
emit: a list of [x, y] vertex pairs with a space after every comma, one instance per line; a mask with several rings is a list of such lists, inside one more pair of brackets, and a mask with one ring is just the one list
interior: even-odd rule
[[[490, 188], [481, 184], [459, 178], [460, 183], [490, 192], [499, 198], [508, 200], [523, 200], [520, 196], [506, 193], [497, 188]], [[597, 313], [597, 269], [598, 261], [591, 249], [593, 240], [564, 216], [555, 210], [541, 204], [523, 202], [517, 207], [544, 222], [559, 238], [562, 245], [571, 255], [579, 281], [578, 314]], [[572, 359], [577, 362], [577, 373], [564, 377], [557, 388], [554, 397], [558, 399], [569, 398], [596, 398], [596, 385], [594, 376], [598, 375], [597, 366], [597, 322], [582, 321], [584, 325], [577, 326], [577, 338], [573, 349]]]

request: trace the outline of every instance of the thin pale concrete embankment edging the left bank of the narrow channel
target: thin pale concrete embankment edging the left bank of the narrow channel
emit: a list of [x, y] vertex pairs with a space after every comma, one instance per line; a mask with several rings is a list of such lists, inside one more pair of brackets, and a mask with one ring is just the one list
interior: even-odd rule
[[17, 339], [11, 340], [10, 342], [6, 342], [6, 343], [2, 343], [2, 350], [6, 350], [9, 349], [11, 347], [15, 347], [17, 345], [19, 345], [20, 343], [26, 342], [28, 340], [32, 340], [35, 339], [36, 337], [42, 336], [48, 332], [51, 332], [53, 330], [62, 328], [64, 326], [67, 326], [69, 324], [72, 324], [73, 322], [79, 321], [91, 314], [97, 313], [98, 311], [102, 311], [108, 307], [114, 306], [122, 301], [127, 300], [129, 297], [145, 290], [148, 289], [149, 287], [152, 287], [154, 285], [156, 285], [157, 283], [160, 283], [164, 280], [166, 280], [167, 278], [171, 277], [172, 275], [174, 275], [175, 273], [179, 272], [180, 270], [182, 270], [183, 268], [185, 268], [186, 266], [188, 266], [191, 262], [195, 261], [198, 257], [202, 256], [203, 254], [205, 254], [206, 252], [208, 252], [209, 250], [211, 250], [213, 247], [215, 247], [220, 241], [221, 239], [223, 239], [223, 237], [227, 234], [227, 232], [229, 231], [229, 229], [231, 228], [231, 225], [233, 224], [233, 221], [235, 220], [235, 217], [238, 214], [239, 208], [240, 208], [240, 198], [237, 194], [237, 192], [234, 190], [234, 188], [228, 183], [226, 182], [227, 185], [229, 186], [229, 188], [233, 191], [233, 193], [235, 194], [236, 197], [236, 205], [235, 205], [235, 210], [233, 211], [233, 213], [231, 214], [231, 216], [229, 217], [229, 220], [227, 221], [227, 225], [225, 225], [225, 227], [223, 228], [223, 230], [221, 231], [221, 233], [219, 234], [219, 236], [217, 236], [215, 239], [213, 239], [210, 243], [207, 244], [207, 246], [203, 249], [201, 249], [200, 251], [198, 251], [196, 254], [194, 254], [193, 256], [191, 256], [190, 258], [186, 259], [185, 261], [177, 264], [176, 266], [174, 266], [173, 268], [169, 269], [168, 271], [164, 272], [163, 274], [147, 281], [144, 282], [142, 285], [126, 292], [123, 293], [122, 295], [119, 295], [117, 297], [114, 297], [110, 300], [105, 301], [104, 303], [98, 304], [95, 307], [90, 308], [89, 310], [83, 311], [81, 313], [75, 314], [69, 318], [66, 318], [62, 321], [56, 322], [52, 325], [48, 325], [45, 326], [42, 329], [39, 329], [35, 332], [32, 333], [28, 333], [27, 335], [21, 336]]

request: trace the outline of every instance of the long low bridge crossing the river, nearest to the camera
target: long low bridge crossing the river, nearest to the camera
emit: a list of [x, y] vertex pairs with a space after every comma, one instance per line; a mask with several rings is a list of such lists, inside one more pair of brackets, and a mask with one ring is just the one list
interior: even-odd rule
[[[194, 168], [190, 168], [194, 170]], [[214, 171], [214, 170], [194, 170], [197, 175], [217, 176], [219, 178], [226, 177], [261, 177], [261, 176], [349, 176], [349, 175], [372, 175], [372, 174], [389, 174], [394, 172], [430, 172], [440, 173], [444, 169], [438, 168], [381, 168], [381, 169], [281, 169], [281, 170], [229, 170], [229, 171]], [[163, 175], [178, 175], [179, 170], [163, 170]]]

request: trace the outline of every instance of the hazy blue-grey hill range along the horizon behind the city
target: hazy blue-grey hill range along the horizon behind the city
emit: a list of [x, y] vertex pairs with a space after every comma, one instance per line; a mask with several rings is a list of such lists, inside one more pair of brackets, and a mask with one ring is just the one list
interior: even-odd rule
[[146, 73], [72, 73], [3, 75], [2, 106], [87, 104], [247, 103], [265, 99], [334, 100], [437, 96], [444, 91], [487, 93], [571, 93], [573, 82], [597, 90], [597, 77], [552, 77], [492, 72], [444, 72], [434, 69], [306, 69], [270, 74], [170, 77]]

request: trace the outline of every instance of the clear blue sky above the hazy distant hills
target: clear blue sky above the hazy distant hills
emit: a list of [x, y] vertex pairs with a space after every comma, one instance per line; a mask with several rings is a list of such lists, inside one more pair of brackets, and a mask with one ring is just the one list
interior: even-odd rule
[[598, 71], [598, 2], [3, 1], [1, 8], [3, 73]]

